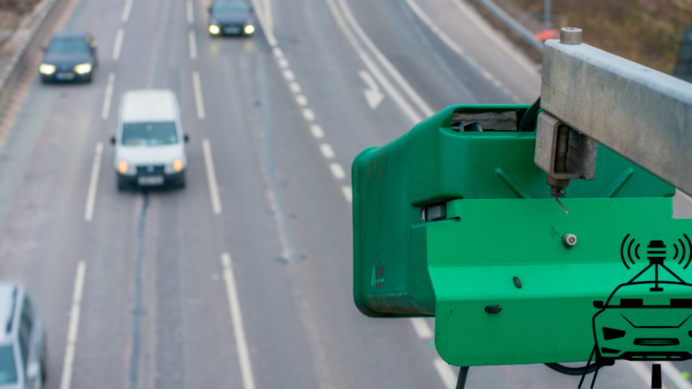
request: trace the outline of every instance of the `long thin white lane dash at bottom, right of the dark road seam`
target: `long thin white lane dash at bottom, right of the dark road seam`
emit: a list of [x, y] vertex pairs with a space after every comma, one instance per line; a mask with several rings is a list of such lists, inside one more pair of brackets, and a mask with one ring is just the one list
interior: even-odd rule
[[233, 322], [233, 334], [235, 334], [235, 347], [238, 350], [238, 359], [240, 360], [240, 374], [243, 378], [243, 388], [255, 389], [255, 377], [253, 377], [250, 352], [248, 352], [248, 342], [245, 339], [243, 316], [240, 312], [240, 301], [238, 300], [238, 290], [235, 287], [233, 264], [230, 260], [230, 254], [221, 254], [221, 263], [224, 265], [224, 280], [226, 281], [226, 292], [228, 293], [230, 319]]

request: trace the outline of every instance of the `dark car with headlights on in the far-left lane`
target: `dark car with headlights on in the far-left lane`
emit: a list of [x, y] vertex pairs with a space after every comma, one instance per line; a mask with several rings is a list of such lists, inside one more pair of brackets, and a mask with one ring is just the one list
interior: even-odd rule
[[62, 31], [53, 35], [45, 48], [46, 55], [39, 73], [43, 82], [91, 82], [98, 65], [96, 41], [88, 32]]

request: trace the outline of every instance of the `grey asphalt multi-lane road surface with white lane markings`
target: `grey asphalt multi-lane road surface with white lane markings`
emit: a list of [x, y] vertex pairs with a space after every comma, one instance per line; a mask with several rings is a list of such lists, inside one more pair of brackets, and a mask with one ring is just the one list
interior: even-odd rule
[[[210, 37], [208, 0], [60, 1], [57, 28], [92, 32], [100, 66], [22, 86], [0, 153], [0, 275], [44, 316], [46, 388], [455, 385], [432, 320], [354, 306], [349, 167], [450, 104], [533, 102], [534, 64], [458, 0], [255, 0], [248, 38]], [[185, 189], [116, 189], [109, 137], [135, 88], [179, 96]], [[647, 388], [648, 369], [618, 362], [597, 387]], [[577, 383], [474, 367], [467, 388]]]

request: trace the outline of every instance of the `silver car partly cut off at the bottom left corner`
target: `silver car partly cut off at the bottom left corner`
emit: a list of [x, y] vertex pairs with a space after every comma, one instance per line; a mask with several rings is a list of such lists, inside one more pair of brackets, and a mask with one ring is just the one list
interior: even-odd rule
[[43, 321], [23, 287], [0, 283], [0, 388], [39, 389], [46, 372]]

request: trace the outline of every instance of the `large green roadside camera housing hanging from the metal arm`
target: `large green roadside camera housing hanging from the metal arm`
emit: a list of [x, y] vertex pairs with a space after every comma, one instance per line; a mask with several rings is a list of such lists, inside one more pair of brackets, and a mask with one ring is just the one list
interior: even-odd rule
[[356, 306], [435, 316], [456, 366], [585, 361], [593, 301], [644, 266], [623, 265], [623, 237], [692, 231], [671, 218], [673, 187], [604, 146], [596, 178], [567, 187], [566, 214], [534, 163], [536, 133], [516, 131], [527, 108], [450, 106], [353, 163]]

